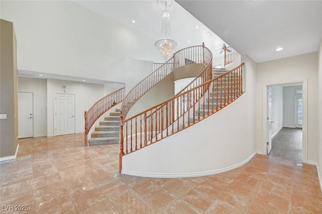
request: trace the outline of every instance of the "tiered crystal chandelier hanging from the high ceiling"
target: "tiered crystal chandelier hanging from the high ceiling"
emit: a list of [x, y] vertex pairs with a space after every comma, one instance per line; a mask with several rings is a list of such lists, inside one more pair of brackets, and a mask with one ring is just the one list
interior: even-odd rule
[[177, 42], [171, 39], [170, 13], [167, 11], [167, 6], [171, 6], [173, 1], [158, 0], [158, 3], [165, 6], [166, 10], [162, 13], [162, 39], [157, 40], [154, 45], [161, 55], [167, 60], [177, 46]]

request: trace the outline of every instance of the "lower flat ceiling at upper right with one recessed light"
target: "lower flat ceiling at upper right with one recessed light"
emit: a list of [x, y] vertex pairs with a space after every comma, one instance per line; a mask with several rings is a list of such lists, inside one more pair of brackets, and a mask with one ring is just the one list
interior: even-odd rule
[[[241, 54], [256, 62], [318, 50], [322, 1], [178, 1]], [[283, 47], [282, 51], [275, 51]]]

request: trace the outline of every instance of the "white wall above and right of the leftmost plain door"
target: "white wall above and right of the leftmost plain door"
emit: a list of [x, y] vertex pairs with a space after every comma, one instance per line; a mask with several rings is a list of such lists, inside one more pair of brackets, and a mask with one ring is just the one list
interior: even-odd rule
[[47, 135], [47, 81], [35, 78], [18, 78], [19, 92], [34, 92], [34, 136]]

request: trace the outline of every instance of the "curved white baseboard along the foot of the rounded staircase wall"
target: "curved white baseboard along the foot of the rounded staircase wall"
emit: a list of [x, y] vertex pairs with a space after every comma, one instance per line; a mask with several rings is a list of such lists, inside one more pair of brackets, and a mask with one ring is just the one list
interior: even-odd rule
[[238, 167], [243, 166], [247, 162], [249, 162], [257, 152], [254, 152], [250, 157], [248, 157], [245, 161], [242, 161], [236, 165], [226, 167], [223, 169], [218, 170], [212, 170], [207, 172], [197, 172], [197, 173], [144, 173], [144, 172], [134, 172], [129, 170], [123, 170], [122, 174], [125, 175], [133, 175], [133, 176], [139, 176], [139, 177], [149, 177], [149, 178], [186, 178], [186, 177], [200, 177], [200, 176], [206, 176], [206, 175], [214, 175], [222, 172], [227, 172], [233, 169], [236, 169]]

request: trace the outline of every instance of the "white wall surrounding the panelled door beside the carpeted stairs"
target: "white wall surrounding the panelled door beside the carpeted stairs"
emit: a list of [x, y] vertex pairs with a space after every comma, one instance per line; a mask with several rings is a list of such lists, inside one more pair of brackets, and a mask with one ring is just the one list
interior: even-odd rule
[[[66, 87], [64, 92], [63, 86]], [[75, 133], [84, 132], [84, 111], [104, 97], [104, 85], [62, 80], [47, 80], [47, 136], [54, 135], [55, 93], [75, 95]]]

